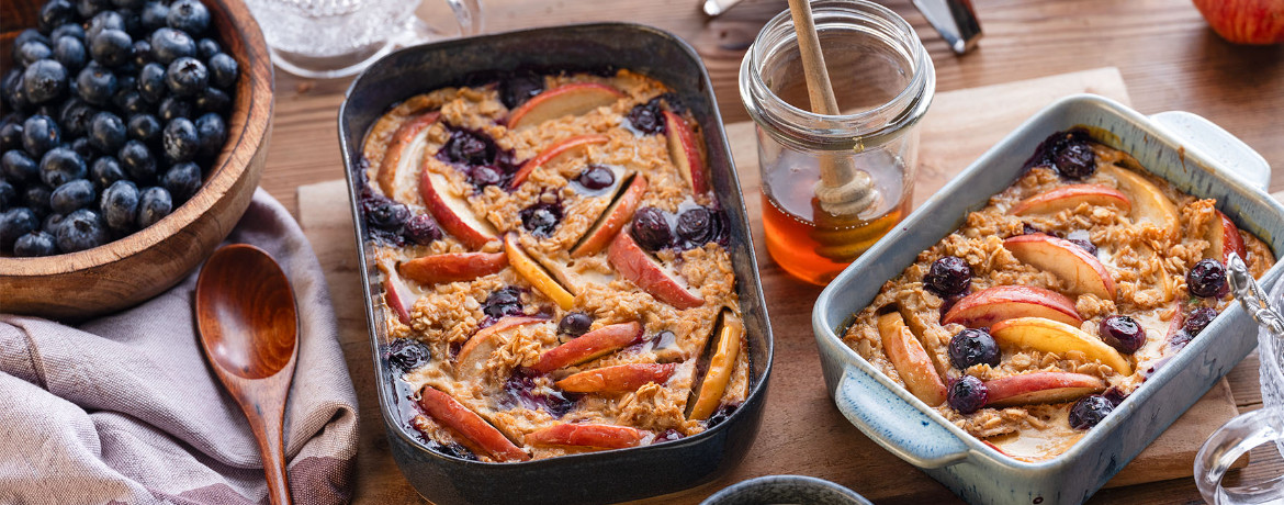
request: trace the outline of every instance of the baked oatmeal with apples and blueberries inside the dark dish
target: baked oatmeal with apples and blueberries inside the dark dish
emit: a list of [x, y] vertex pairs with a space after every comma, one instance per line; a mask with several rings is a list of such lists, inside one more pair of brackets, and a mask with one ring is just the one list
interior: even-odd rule
[[678, 439], [750, 388], [700, 126], [660, 82], [519, 75], [388, 111], [360, 207], [404, 421], [523, 461]]

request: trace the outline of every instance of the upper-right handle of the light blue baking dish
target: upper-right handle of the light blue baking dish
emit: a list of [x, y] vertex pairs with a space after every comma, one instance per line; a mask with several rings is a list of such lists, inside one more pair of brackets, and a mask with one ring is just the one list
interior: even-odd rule
[[1248, 185], [1265, 191], [1271, 182], [1271, 166], [1266, 163], [1266, 158], [1212, 121], [1184, 111], [1161, 112], [1150, 116], [1150, 120]]

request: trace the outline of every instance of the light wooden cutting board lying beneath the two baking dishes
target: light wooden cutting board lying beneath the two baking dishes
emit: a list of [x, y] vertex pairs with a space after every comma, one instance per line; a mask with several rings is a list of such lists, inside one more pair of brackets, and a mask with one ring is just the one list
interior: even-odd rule
[[[1116, 68], [936, 95], [921, 126], [915, 207], [1022, 121], [1055, 99], [1076, 93], [1129, 103]], [[761, 242], [761, 200], [756, 197], [760, 182], [752, 123], [727, 125], [727, 136], [749, 195], [745, 200], [754, 221], [763, 292], [776, 334], [776, 369], [763, 427], [745, 461], [711, 483], [665, 496], [663, 501], [698, 502], [734, 482], [767, 474], [820, 477], [874, 501], [957, 501], [930, 477], [865, 438], [833, 406], [820, 377], [810, 324], [811, 305], [820, 290], [794, 280], [767, 254]], [[299, 221], [326, 272], [339, 317], [339, 339], [361, 407], [357, 502], [416, 501], [417, 495], [392, 460], [380, 419], [347, 188], [342, 181], [330, 181], [300, 186], [298, 191]], [[1217, 382], [1107, 487], [1190, 477], [1199, 446], [1236, 414], [1230, 387], [1225, 380]]]

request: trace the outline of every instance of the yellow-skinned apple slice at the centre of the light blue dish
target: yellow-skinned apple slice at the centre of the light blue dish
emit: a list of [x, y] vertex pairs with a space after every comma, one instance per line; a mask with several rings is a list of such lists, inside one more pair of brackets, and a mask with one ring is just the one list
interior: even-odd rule
[[1132, 375], [1132, 365], [1118, 351], [1100, 338], [1061, 321], [1044, 317], [1009, 319], [990, 326], [990, 334], [999, 346], [1027, 347], [1058, 355], [1079, 351], [1089, 360], [1100, 361], [1115, 369], [1120, 375]]

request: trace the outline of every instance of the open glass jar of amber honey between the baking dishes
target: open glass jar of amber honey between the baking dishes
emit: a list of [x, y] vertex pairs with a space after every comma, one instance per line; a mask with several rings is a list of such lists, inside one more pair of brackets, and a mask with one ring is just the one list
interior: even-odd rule
[[[740, 67], [740, 95], [758, 125], [767, 251], [791, 275], [827, 284], [909, 213], [918, 121], [936, 72], [900, 15], [864, 0], [811, 3], [841, 114], [810, 112], [794, 22], [769, 21]], [[845, 159], [837, 159], [845, 158]], [[815, 197], [820, 164], [868, 173], [873, 199], [833, 215]]]

